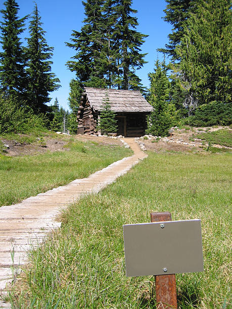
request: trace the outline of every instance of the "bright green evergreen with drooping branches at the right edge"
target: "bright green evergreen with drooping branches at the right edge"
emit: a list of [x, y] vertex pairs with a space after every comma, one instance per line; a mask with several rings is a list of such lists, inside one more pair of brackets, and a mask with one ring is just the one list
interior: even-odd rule
[[211, 101], [231, 102], [231, 11], [229, 0], [199, 1], [184, 25], [173, 64], [190, 111]]

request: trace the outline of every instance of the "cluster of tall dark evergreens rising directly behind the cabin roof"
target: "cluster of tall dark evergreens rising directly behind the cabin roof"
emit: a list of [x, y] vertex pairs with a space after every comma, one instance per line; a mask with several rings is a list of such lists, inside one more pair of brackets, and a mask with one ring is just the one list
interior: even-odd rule
[[135, 69], [145, 61], [140, 46], [146, 35], [135, 30], [131, 0], [87, 0], [81, 31], [73, 31], [67, 46], [76, 50], [68, 68], [81, 87], [143, 89]]

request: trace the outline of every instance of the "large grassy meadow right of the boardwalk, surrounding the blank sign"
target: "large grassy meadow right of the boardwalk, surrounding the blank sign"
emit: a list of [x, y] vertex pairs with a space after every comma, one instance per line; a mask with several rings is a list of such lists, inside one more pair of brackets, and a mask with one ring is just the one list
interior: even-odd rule
[[154, 278], [125, 276], [122, 225], [201, 219], [204, 273], [176, 276], [179, 308], [229, 308], [231, 154], [157, 154], [62, 214], [12, 291], [16, 308], [155, 308]]

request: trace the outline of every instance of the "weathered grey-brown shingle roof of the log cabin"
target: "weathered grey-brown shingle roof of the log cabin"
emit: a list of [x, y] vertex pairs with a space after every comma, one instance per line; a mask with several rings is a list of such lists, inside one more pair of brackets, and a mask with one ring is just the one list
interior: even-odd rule
[[111, 109], [114, 112], [151, 112], [152, 106], [138, 90], [117, 90], [103, 88], [85, 88], [90, 106], [95, 111], [103, 107], [103, 99], [108, 93]]

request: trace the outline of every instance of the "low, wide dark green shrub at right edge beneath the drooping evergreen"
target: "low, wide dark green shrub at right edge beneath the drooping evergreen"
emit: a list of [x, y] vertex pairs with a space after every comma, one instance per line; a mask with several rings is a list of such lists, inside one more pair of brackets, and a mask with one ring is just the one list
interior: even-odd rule
[[231, 103], [213, 101], [203, 104], [194, 111], [194, 116], [190, 116], [186, 121], [196, 127], [229, 125], [232, 121]]

